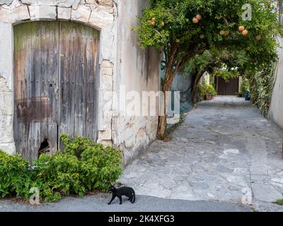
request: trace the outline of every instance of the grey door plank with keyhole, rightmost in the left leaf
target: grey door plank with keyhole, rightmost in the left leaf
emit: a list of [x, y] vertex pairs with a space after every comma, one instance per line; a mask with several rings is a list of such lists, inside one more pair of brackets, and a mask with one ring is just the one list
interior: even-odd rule
[[41, 105], [45, 106], [44, 111], [48, 115], [41, 121], [41, 139], [47, 139], [50, 153], [53, 154], [57, 150], [59, 121], [59, 23], [41, 22], [41, 33]]

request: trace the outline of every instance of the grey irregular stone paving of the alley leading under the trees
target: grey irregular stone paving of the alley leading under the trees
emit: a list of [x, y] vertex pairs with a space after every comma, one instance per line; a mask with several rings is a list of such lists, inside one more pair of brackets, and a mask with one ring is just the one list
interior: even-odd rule
[[155, 141], [120, 178], [139, 195], [248, 203], [282, 211], [282, 131], [239, 97], [201, 102], [173, 132]]

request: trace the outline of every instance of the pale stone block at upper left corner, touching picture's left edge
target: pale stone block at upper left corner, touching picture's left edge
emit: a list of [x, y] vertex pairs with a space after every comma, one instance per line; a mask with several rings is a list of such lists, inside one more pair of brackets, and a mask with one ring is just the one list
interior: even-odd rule
[[29, 19], [30, 13], [28, 13], [28, 6], [19, 6], [13, 8], [13, 10], [2, 8], [0, 11], [0, 21], [4, 23], [16, 23]]

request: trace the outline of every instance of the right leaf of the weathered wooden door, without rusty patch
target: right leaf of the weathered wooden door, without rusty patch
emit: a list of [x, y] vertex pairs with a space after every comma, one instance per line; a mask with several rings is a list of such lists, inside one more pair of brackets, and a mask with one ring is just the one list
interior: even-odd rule
[[59, 32], [62, 80], [59, 133], [68, 133], [71, 138], [86, 136], [96, 141], [99, 32], [66, 22], [60, 22]]

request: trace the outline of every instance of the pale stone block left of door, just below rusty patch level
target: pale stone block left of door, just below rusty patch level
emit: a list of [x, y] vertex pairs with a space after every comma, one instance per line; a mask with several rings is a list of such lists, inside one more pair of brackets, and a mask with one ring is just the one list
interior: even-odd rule
[[0, 115], [0, 143], [13, 142], [13, 117]]

